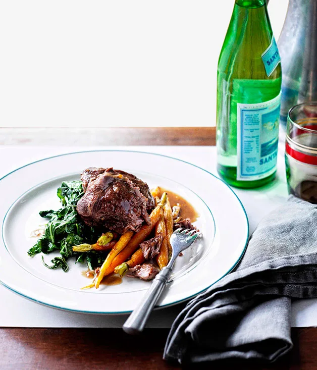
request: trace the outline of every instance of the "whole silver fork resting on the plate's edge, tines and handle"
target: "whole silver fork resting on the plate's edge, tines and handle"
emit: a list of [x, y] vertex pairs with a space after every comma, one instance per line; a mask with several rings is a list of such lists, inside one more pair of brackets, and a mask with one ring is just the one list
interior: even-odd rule
[[144, 326], [149, 318], [152, 309], [161, 296], [166, 284], [172, 274], [172, 267], [176, 257], [183, 250], [187, 249], [197, 239], [200, 232], [197, 230], [182, 230], [177, 229], [171, 236], [170, 243], [172, 245], [172, 257], [166, 267], [156, 275], [149, 290], [141, 300], [140, 304], [130, 314], [129, 318], [123, 325], [123, 330], [128, 334], [139, 334], [144, 329]]

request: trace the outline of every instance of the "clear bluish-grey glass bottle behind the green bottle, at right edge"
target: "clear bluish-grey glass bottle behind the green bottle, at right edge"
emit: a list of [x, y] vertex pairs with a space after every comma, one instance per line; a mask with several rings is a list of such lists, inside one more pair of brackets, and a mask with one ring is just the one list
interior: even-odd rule
[[294, 105], [317, 100], [316, 0], [289, 0], [278, 46], [283, 69], [280, 118], [285, 129]]

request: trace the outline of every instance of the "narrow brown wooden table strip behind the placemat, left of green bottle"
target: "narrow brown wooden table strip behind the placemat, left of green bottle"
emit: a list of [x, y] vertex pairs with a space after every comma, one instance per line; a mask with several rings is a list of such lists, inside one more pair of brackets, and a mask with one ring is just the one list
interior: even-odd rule
[[215, 127], [0, 127], [0, 145], [215, 145], [215, 133]]

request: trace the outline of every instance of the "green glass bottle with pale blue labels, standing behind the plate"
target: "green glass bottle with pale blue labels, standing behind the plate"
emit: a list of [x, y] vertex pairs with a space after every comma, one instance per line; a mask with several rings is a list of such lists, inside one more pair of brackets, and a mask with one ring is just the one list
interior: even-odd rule
[[235, 0], [217, 78], [218, 172], [230, 185], [275, 177], [281, 75], [266, 0]]

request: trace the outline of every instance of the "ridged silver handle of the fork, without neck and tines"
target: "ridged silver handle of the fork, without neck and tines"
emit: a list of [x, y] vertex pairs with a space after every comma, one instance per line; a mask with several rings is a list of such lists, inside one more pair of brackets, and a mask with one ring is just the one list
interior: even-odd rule
[[143, 299], [124, 323], [122, 328], [126, 333], [139, 334], [142, 332], [157, 299], [161, 296], [170, 279], [171, 273], [172, 269], [170, 267], [164, 267], [161, 272], [156, 275]]

